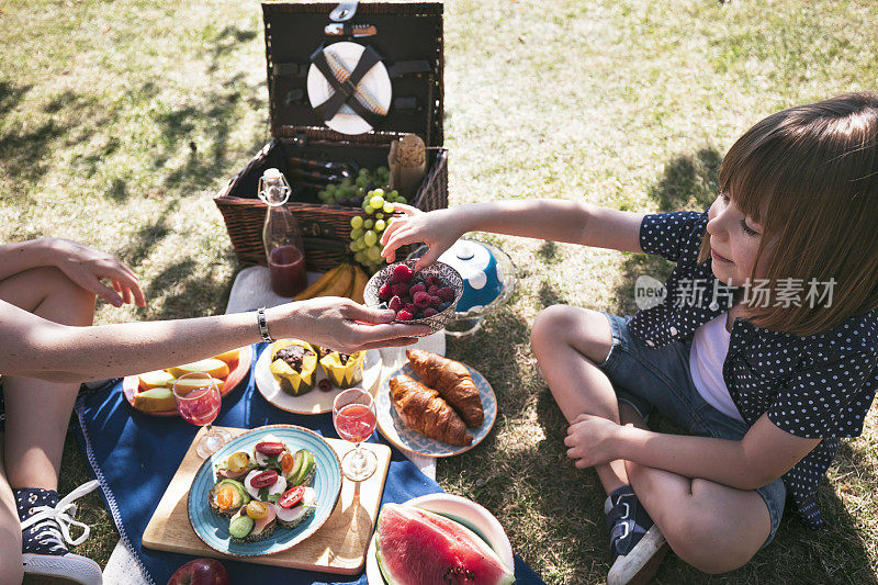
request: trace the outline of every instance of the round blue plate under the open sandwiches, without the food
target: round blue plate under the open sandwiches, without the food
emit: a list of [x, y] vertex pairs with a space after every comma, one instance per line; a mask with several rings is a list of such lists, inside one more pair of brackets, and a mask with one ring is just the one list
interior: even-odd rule
[[[311, 519], [305, 520], [292, 530], [278, 526], [266, 540], [238, 544], [229, 540], [228, 518], [221, 518], [211, 511], [207, 494], [216, 483], [214, 464], [222, 463], [236, 451], [252, 453], [254, 446], [263, 440], [266, 435], [273, 435], [295, 452], [307, 449], [314, 453], [316, 472], [312, 487], [317, 492], [317, 509]], [[189, 522], [192, 529], [210, 548], [230, 556], [257, 556], [274, 554], [302, 542], [323, 526], [336, 507], [341, 493], [341, 464], [338, 455], [323, 437], [303, 427], [294, 425], [270, 425], [259, 427], [235, 437], [219, 448], [199, 469], [192, 487], [189, 490]]]

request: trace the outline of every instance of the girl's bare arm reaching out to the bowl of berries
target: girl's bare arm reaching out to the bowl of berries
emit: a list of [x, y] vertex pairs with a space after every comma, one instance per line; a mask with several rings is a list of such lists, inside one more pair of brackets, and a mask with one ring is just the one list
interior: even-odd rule
[[466, 232], [493, 232], [598, 248], [642, 251], [640, 224], [643, 214], [598, 207], [561, 199], [497, 201], [459, 205], [421, 213], [396, 205], [404, 217], [394, 218], [381, 241], [383, 256], [393, 261], [396, 249], [423, 241], [430, 251], [418, 269], [435, 261]]

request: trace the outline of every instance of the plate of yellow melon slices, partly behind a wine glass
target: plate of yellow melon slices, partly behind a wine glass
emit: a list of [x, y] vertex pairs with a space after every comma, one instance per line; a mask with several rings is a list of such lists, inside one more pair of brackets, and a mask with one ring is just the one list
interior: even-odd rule
[[172, 392], [177, 378], [191, 372], [205, 372], [216, 381], [219, 394], [225, 396], [247, 376], [251, 361], [252, 347], [245, 346], [205, 360], [126, 375], [122, 380], [122, 393], [128, 404], [142, 413], [179, 416]]

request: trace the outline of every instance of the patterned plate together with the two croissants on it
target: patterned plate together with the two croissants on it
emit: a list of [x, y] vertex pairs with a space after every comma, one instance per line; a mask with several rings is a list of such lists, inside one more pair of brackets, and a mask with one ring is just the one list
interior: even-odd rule
[[426, 457], [469, 451], [487, 437], [497, 397], [473, 368], [424, 350], [390, 373], [375, 396], [378, 428], [394, 446]]

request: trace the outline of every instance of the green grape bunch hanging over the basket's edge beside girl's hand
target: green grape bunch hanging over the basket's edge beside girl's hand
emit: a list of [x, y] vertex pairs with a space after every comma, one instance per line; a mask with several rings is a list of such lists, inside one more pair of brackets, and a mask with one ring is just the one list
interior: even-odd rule
[[373, 189], [365, 193], [361, 203], [364, 214], [350, 218], [350, 244], [353, 259], [365, 268], [370, 274], [384, 263], [381, 257], [381, 233], [387, 228], [396, 203], [406, 203], [403, 195], [384, 189]]

